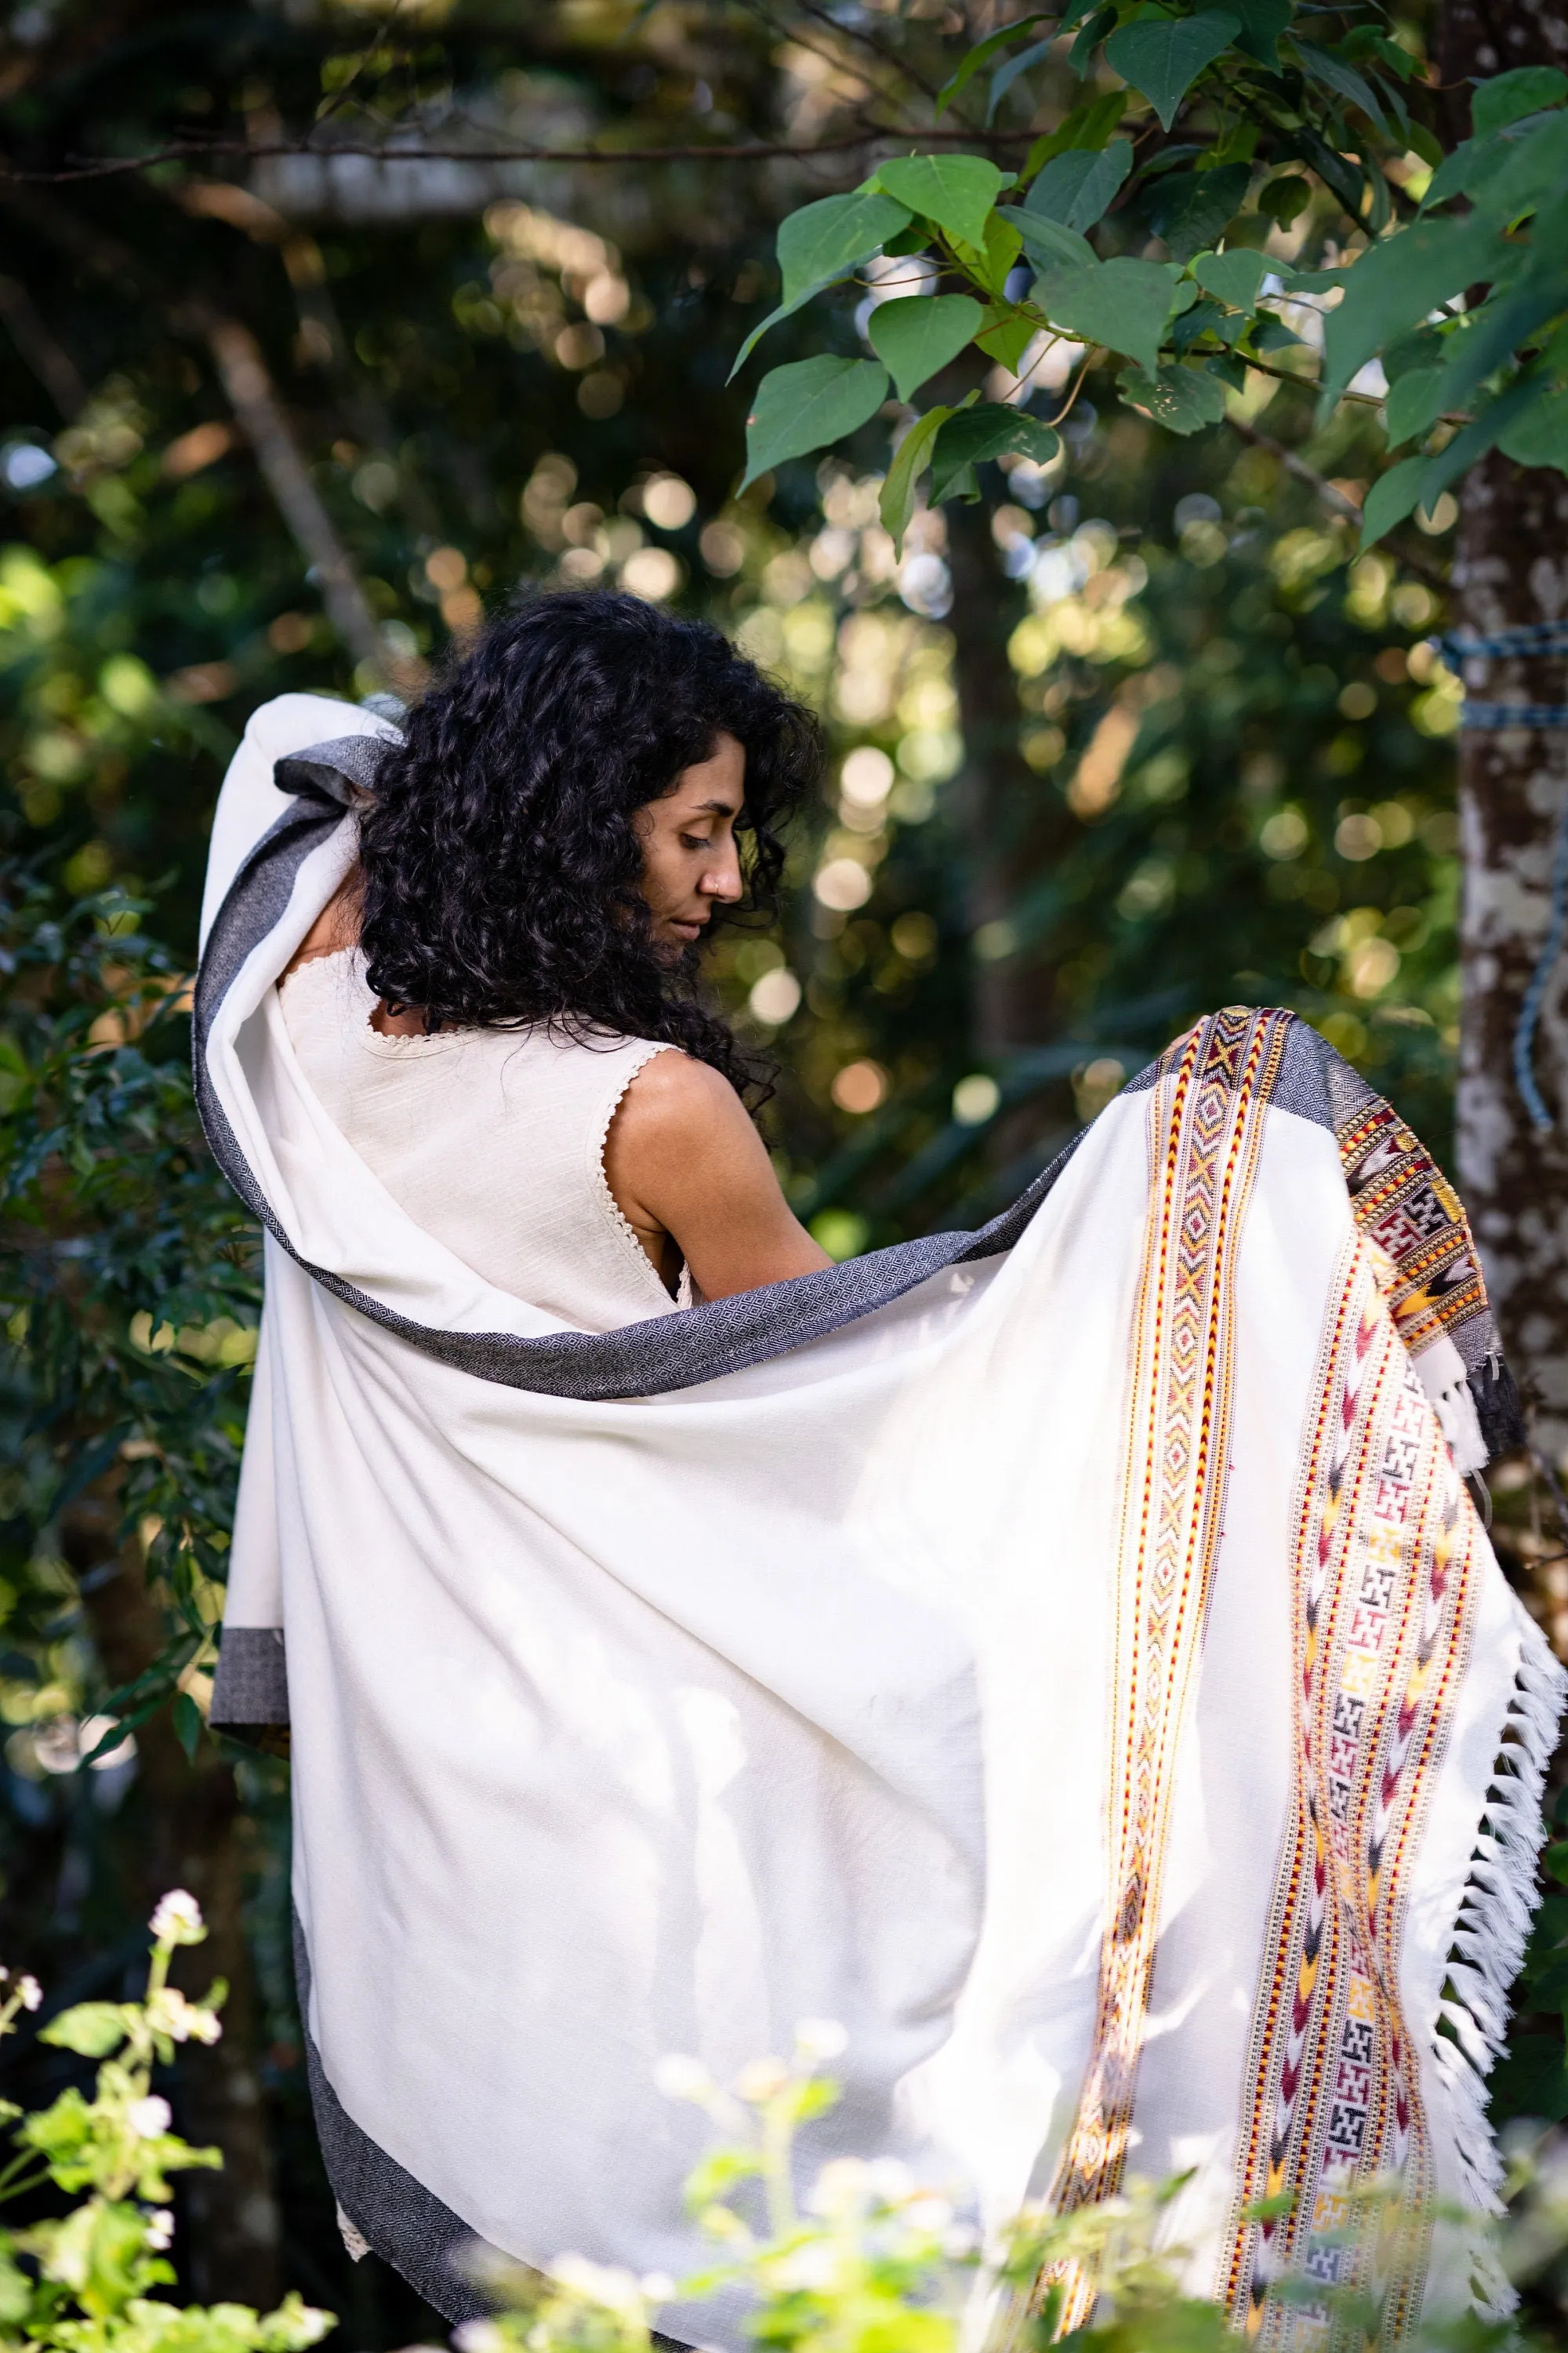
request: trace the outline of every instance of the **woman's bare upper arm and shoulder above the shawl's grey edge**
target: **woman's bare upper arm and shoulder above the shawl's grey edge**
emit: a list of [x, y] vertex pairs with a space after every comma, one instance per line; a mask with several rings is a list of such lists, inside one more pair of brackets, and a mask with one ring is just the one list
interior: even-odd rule
[[703, 1299], [832, 1266], [790, 1214], [773, 1162], [729, 1080], [656, 1054], [621, 1099], [604, 1174], [654, 1266], [675, 1242]]

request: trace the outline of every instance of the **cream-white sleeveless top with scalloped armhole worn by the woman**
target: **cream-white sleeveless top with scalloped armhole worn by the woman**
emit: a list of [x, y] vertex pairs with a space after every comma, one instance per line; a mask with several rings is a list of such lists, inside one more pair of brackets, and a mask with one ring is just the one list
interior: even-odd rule
[[604, 1176], [616, 1106], [649, 1038], [578, 1045], [545, 1028], [383, 1038], [357, 948], [280, 984], [310, 1092], [416, 1226], [465, 1266], [578, 1332], [614, 1332], [672, 1299]]

